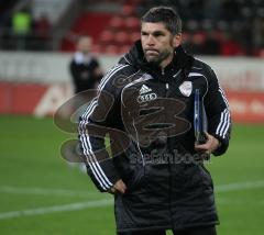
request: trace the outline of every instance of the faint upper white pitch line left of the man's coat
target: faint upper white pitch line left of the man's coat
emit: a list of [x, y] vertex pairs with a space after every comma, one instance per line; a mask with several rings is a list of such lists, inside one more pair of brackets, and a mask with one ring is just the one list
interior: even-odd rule
[[0, 192], [13, 194], [35, 194], [35, 195], [62, 195], [62, 197], [78, 197], [88, 198], [90, 195], [98, 195], [98, 192], [85, 192], [67, 189], [47, 189], [47, 188], [20, 188], [10, 186], [0, 186]]

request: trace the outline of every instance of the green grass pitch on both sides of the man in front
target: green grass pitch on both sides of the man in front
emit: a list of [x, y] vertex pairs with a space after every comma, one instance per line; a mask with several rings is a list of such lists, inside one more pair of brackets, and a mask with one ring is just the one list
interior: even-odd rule
[[[0, 133], [0, 234], [114, 234], [111, 195], [59, 155], [74, 135], [29, 116], [1, 116]], [[228, 154], [207, 164], [219, 235], [264, 233], [263, 139], [264, 125], [234, 125]]]

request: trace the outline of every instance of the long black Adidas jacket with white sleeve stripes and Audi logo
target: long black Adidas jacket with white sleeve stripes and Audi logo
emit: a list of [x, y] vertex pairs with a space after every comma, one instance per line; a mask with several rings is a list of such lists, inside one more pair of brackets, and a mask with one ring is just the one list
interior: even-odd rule
[[128, 187], [114, 195], [119, 232], [218, 224], [212, 180], [194, 149], [197, 88], [208, 133], [221, 143], [213, 155], [222, 155], [231, 128], [228, 101], [212, 69], [182, 46], [161, 70], [146, 63], [136, 42], [102, 78], [81, 115], [79, 141], [92, 181], [100, 191], [119, 179]]

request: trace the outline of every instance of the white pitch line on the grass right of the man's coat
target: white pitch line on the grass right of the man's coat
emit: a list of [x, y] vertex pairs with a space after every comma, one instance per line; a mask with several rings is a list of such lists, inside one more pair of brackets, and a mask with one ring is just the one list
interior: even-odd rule
[[230, 192], [244, 189], [257, 189], [264, 188], [264, 181], [249, 181], [249, 182], [237, 182], [222, 186], [216, 186], [217, 192]]

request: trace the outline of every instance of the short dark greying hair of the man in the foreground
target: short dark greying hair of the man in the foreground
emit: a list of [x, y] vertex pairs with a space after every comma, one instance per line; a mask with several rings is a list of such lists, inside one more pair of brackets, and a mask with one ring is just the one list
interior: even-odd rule
[[170, 7], [151, 8], [142, 18], [141, 23], [164, 23], [165, 27], [176, 35], [182, 33], [182, 20], [178, 13]]

